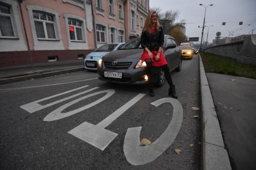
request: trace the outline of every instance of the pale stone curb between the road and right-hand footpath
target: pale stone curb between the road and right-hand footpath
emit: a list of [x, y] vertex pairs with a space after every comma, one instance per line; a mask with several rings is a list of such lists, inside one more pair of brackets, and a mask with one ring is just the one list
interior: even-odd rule
[[203, 169], [232, 169], [228, 152], [222, 138], [219, 120], [211, 96], [210, 87], [199, 54], [200, 87], [201, 87], [201, 111], [202, 111], [202, 164]]

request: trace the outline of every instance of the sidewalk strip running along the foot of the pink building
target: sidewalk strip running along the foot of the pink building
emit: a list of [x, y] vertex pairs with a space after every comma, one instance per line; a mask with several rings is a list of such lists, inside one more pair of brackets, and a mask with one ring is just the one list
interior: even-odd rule
[[0, 68], [0, 84], [84, 70], [83, 59]]

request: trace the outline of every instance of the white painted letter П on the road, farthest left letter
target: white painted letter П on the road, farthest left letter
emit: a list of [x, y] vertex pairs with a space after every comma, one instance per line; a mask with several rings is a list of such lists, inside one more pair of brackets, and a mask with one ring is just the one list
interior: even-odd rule
[[63, 102], [65, 100], [69, 100], [69, 99], [72, 99], [73, 97], [76, 97], [76, 96], [80, 96], [81, 94], [84, 94], [84, 93], [88, 93], [89, 91], [93, 91], [93, 90], [96, 90], [97, 88], [99, 87], [95, 87], [95, 88], [91, 88], [89, 90], [86, 90], [86, 91], [83, 91], [81, 93], [78, 93], [78, 94], [74, 94], [72, 96], [69, 96], [69, 97], [65, 97], [64, 99], [60, 99], [60, 100], [57, 100], [55, 102], [52, 102], [52, 103], [48, 103], [46, 105], [40, 105], [39, 102], [43, 102], [45, 100], [48, 100], [48, 99], [52, 99], [54, 97], [57, 97], [57, 96], [61, 96], [63, 94], [67, 94], [67, 93], [70, 93], [72, 91], [76, 91], [76, 90], [80, 90], [82, 88], [86, 88], [86, 87], [89, 87], [89, 85], [85, 85], [83, 87], [80, 87], [80, 88], [75, 88], [73, 90], [69, 90], [69, 91], [66, 91], [64, 93], [60, 93], [60, 94], [55, 94], [54, 96], [50, 96], [50, 97], [46, 97], [44, 99], [40, 99], [40, 100], [37, 100], [35, 102], [31, 102], [31, 103], [27, 103], [26, 105], [22, 105], [20, 106], [20, 108], [24, 109], [25, 111], [28, 111], [30, 112], [31, 114], [36, 112], [36, 111], [40, 111], [41, 109], [44, 109], [44, 108], [48, 108], [49, 106], [53, 106], [53, 105], [56, 105], [57, 103], [60, 103], [60, 102]]

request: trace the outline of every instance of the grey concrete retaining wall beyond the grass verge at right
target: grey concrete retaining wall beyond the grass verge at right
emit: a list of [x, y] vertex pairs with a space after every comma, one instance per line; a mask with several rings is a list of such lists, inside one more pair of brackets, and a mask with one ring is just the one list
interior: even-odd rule
[[229, 56], [237, 61], [256, 65], [256, 34], [243, 38], [235, 43], [221, 44], [208, 47], [205, 52]]

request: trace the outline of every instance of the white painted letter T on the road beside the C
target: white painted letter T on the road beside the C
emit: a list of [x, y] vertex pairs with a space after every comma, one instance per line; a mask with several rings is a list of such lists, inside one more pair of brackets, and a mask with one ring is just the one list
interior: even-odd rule
[[125, 105], [114, 111], [111, 115], [96, 125], [84, 122], [70, 130], [68, 133], [103, 151], [118, 135], [110, 130], [106, 130], [105, 127], [110, 125], [114, 120], [116, 120], [116, 118], [120, 117], [120, 115], [131, 108], [131, 106], [133, 106], [144, 96], [145, 94], [138, 94], [136, 97], [125, 103]]

